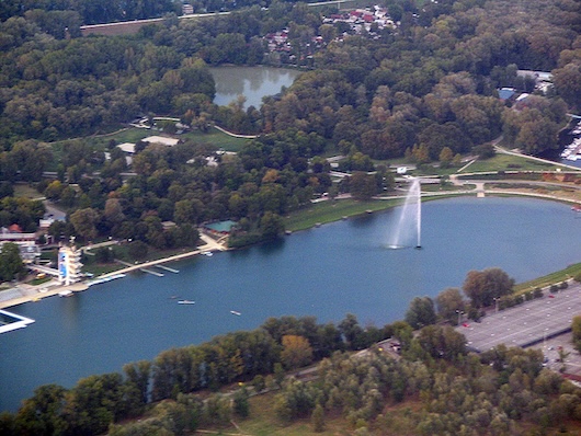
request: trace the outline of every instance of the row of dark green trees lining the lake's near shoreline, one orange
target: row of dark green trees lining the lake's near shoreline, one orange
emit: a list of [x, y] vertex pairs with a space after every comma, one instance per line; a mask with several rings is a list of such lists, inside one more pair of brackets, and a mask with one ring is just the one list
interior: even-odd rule
[[[368, 346], [390, 336], [391, 329], [386, 325], [364, 330], [354, 315], [348, 315], [337, 326], [318, 324], [314, 317], [269, 319], [251, 332], [229, 333], [202, 345], [168, 349], [153, 362], [127, 364], [123, 375], [90, 376], [72, 389], [39, 387], [18, 413], [0, 414], [0, 434], [103, 434], [112, 423], [141, 415], [151, 402], [183, 400], [184, 394], [218, 390], [232, 381], [249, 381], [258, 376], [254, 383], [262, 390], [264, 376], [273, 372], [281, 385], [283, 367], [293, 369], [335, 351]], [[354, 334], [361, 341], [357, 344]]]

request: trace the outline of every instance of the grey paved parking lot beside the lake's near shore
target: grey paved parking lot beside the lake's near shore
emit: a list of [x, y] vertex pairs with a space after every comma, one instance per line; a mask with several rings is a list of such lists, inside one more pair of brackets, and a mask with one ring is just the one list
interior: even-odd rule
[[[573, 317], [581, 314], [581, 285], [571, 282], [567, 289], [556, 294], [549, 294], [545, 289], [544, 294], [543, 298], [493, 311], [480, 322], [467, 321], [456, 330], [466, 336], [467, 345], [478, 352], [502, 343], [506, 346], [534, 346], [546, 351], [549, 346], [554, 351], [558, 346], [567, 346], [568, 351], [572, 351], [571, 335], [566, 333], [571, 329]], [[572, 352], [571, 358], [573, 354], [578, 355]]]

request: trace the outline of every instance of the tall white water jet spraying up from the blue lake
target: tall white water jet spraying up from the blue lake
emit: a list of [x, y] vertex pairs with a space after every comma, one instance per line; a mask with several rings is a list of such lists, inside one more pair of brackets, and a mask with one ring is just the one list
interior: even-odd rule
[[413, 179], [403, 206], [401, 207], [397, 226], [389, 237], [388, 246], [391, 249], [401, 249], [413, 245], [414, 237], [417, 238], [415, 248], [421, 249], [421, 230], [422, 230], [422, 202], [421, 202], [421, 183], [419, 179]]

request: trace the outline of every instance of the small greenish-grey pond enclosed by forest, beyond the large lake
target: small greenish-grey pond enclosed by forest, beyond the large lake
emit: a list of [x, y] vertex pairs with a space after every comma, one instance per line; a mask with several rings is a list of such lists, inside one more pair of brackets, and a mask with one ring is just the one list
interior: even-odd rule
[[280, 93], [300, 74], [297, 70], [272, 67], [216, 67], [209, 71], [216, 81], [214, 103], [226, 106], [238, 95], [244, 95], [244, 108], [260, 108], [263, 96]]

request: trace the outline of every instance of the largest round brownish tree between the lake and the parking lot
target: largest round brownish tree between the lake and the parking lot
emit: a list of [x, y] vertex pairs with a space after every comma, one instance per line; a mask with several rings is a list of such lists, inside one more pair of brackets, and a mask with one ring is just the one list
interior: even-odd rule
[[512, 292], [514, 279], [500, 268], [470, 271], [463, 284], [464, 294], [476, 308], [491, 306], [494, 299]]

